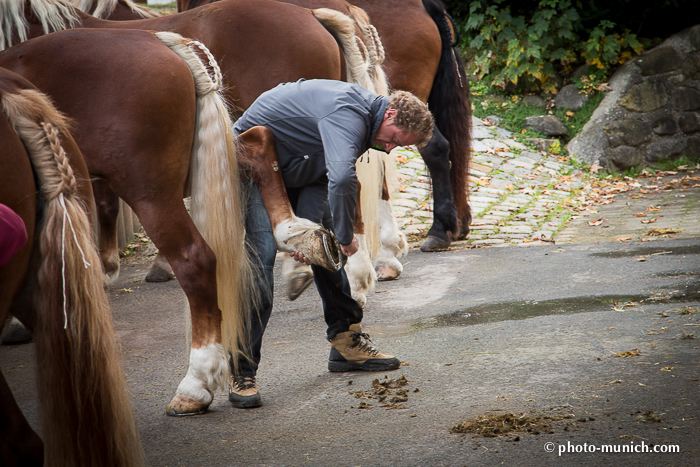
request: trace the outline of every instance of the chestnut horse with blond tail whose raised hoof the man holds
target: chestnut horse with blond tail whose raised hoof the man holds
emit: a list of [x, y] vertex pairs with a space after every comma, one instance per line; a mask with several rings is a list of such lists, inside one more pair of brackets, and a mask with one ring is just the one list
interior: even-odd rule
[[[95, 60], [101, 56], [110, 59]], [[91, 177], [104, 182], [101, 203], [118, 209], [117, 196], [124, 199], [172, 265], [190, 306], [192, 351], [167, 412], [203, 413], [225, 387], [228, 352], [246, 345], [250, 269], [238, 165], [267, 183], [281, 249], [337, 269], [334, 238], [291, 213], [268, 130], [233, 140], [221, 72], [201, 44], [174, 33], [80, 29], [16, 45], [0, 53], [0, 66], [31, 78], [75, 119]], [[182, 201], [188, 193], [192, 217]]]

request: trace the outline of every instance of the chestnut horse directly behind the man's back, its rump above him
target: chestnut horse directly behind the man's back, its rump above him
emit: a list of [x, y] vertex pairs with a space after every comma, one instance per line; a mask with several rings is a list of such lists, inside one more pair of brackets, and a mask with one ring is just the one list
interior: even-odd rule
[[[312, 14], [307, 9], [271, 0], [254, 3], [232, 0], [161, 18], [104, 21], [82, 13], [62, 0], [33, 0], [27, 5], [25, 16], [29, 37], [45, 34], [60, 25], [64, 28], [170, 30], [201, 39], [221, 63], [224, 96], [233, 117], [240, 115], [262, 92], [280, 82], [326, 78], [369, 85], [362, 81], [366, 74], [364, 63], [346, 67], [336, 39], [321, 24], [321, 21], [326, 25], [340, 22], [334, 16], [342, 15], [331, 10]], [[54, 26], [44, 29], [43, 24]], [[347, 32], [337, 32], [336, 35], [345, 37], [343, 53], [346, 58], [360, 54]], [[21, 37], [17, 32], [10, 38], [18, 39]], [[357, 62], [351, 61], [352, 64]], [[97, 199], [103, 198], [101, 191], [96, 189]], [[101, 203], [98, 203], [98, 209], [101, 209]], [[106, 217], [100, 216], [101, 224]], [[103, 240], [100, 241], [103, 258], [106, 256], [104, 252], [116, 252], [116, 243], [105, 245]], [[362, 273], [370, 278], [363, 282], [373, 284], [371, 267]]]

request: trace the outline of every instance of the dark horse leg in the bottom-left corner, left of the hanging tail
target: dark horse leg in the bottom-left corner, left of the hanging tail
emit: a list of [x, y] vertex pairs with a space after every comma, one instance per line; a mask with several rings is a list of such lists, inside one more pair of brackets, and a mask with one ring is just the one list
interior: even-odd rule
[[2, 465], [7, 467], [44, 465], [44, 443], [22, 415], [2, 372], [0, 372], [0, 459], [2, 459]]

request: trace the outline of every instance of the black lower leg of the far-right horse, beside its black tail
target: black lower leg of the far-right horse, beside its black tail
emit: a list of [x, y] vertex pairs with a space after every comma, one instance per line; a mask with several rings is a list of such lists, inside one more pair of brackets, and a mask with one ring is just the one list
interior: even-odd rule
[[433, 185], [433, 225], [428, 230], [428, 236], [420, 249], [421, 251], [444, 250], [459, 233], [457, 210], [450, 183], [450, 143], [440, 130], [434, 127], [433, 137], [421, 149], [420, 154], [430, 170]]

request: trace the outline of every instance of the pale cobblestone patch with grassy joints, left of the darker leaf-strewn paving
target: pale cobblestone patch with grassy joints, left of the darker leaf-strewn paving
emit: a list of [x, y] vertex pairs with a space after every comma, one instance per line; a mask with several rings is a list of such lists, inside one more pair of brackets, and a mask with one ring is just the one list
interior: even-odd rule
[[[465, 244], [508, 246], [552, 241], [571, 216], [581, 173], [553, 154], [536, 152], [512, 133], [473, 118], [469, 204], [474, 220]], [[430, 178], [420, 156], [399, 152], [394, 211], [403, 232], [420, 235], [432, 223]], [[416, 246], [415, 242], [411, 246]]]

